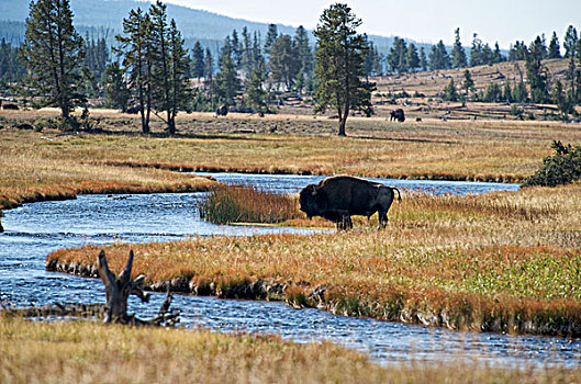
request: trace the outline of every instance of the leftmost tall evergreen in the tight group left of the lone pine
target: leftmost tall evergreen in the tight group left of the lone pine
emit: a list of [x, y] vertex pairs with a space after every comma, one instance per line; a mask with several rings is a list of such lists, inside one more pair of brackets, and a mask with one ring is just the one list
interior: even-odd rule
[[149, 133], [152, 114], [152, 47], [147, 33], [149, 15], [139, 8], [131, 10], [123, 20], [123, 35], [115, 36], [120, 47], [115, 49], [123, 56], [124, 70], [130, 75], [130, 90], [137, 102], [142, 120], [142, 132]]

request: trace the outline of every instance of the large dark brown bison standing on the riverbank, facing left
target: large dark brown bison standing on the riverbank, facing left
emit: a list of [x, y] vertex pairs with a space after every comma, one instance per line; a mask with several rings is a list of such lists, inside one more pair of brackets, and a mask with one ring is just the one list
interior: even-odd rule
[[388, 211], [398, 191], [378, 182], [350, 176], [335, 176], [322, 180], [319, 184], [306, 185], [299, 193], [301, 211], [309, 218], [321, 216], [335, 222], [337, 229], [353, 228], [351, 215], [371, 217], [378, 212], [379, 224], [388, 224]]

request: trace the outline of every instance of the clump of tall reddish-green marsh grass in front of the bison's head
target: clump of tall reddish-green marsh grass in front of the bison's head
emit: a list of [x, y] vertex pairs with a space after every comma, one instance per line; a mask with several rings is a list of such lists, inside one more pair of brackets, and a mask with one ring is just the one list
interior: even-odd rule
[[213, 188], [201, 206], [202, 218], [215, 224], [281, 223], [301, 218], [297, 197], [253, 185]]

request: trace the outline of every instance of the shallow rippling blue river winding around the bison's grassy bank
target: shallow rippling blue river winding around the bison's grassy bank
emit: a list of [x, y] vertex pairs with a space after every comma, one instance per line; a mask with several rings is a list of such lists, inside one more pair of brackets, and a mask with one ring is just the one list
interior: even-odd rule
[[[264, 189], [294, 192], [320, 177], [212, 174], [224, 182], [249, 183]], [[399, 188], [432, 193], [484, 193], [516, 190], [514, 184], [383, 181]], [[120, 199], [122, 197], [122, 199]], [[150, 195], [85, 195], [77, 200], [26, 204], [5, 211], [0, 234], [0, 300], [15, 306], [58, 303], [102, 303], [99, 280], [81, 279], [44, 270], [53, 250], [113, 241], [145, 242], [191, 236], [266, 234], [298, 229], [217, 226], [200, 219], [203, 193]], [[138, 257], [138, 255], [136, 256]], [[141, 317], [153, 316], [164, 295], [152, 303], [132, 300], [130, 308]], [[186, 327], [222, 331], [269, 332], [298, 342], [331, 340], [364, 351], [380, 363], [427, 360], [477, 360], [492, 365], [579, 366], [581, 342], [559, 338], [512, 337], [457, 332], [373, 319], [335, 316], [316, 309], [292, 309], [282, 303], [224, 301], [175, 296]]]

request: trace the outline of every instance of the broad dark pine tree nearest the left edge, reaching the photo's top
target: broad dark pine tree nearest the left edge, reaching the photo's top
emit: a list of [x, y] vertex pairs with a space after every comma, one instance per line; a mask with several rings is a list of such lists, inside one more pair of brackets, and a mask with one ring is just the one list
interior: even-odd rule
[[31, 2], [20, 55], [27, 67], [25, 88], [43, 95], [42, 105], [57, 105], [68, 120], [75, 106], [86, 102], [78, 92], [83, 41], [72, 26], [68, 0]]

